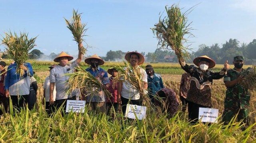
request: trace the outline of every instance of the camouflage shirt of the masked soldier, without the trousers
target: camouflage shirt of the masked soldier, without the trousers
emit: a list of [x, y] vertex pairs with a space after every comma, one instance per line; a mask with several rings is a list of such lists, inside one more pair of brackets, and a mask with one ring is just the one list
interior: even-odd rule
[[[244, 69], [242, 69], [244, 72]], [[225, 81], [232, 81], [238, 78], [241, 74], [234, 70], [228, 70], [224, 76]], [[237, 107], [238, 109], [248, 109], [250, 101], [250, 94], [248, 89], [244, 88], [240, 84], [235, 84], [232, 87], [228, 87], [226, 91], [225, 106], [226, 107]]]

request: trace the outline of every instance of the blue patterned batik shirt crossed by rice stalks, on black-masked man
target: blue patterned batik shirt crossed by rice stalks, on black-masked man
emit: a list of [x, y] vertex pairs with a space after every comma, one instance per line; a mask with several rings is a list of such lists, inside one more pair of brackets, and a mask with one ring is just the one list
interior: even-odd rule
[[[93, 71], [92, 68], [86, 69], [86, 71], [90, 72], [94, 77], [98, 79], [98, 81], [101, 84], [109, 84], [109, 79], [108, 79], [108, 73], [104, 71], [104, 69], [98, 67], [96, 71]], [[105, 102], [106, 101], [106, 96], [102, 89], [97, 89], [92, 87], [91, 91], [86, 91], [88, 93], [88, 96], [86, 96], [86, 101], [87, 102]]]

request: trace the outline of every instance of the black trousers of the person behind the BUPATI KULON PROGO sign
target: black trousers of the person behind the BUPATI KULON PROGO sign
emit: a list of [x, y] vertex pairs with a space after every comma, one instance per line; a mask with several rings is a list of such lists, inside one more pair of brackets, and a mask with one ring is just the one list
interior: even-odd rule
[[199, 108], [211, 108], [210, 106], [203, 106], [194, 102], [188, 101], [188, 119], [191, 123], [198, 121]]

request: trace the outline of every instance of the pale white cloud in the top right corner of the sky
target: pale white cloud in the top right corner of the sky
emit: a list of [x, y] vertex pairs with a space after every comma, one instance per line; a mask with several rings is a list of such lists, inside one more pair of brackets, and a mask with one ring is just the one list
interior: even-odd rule
[[232, 8], [242, 9], [246, 12], [256, 12], [256, 0], [234, 0]]

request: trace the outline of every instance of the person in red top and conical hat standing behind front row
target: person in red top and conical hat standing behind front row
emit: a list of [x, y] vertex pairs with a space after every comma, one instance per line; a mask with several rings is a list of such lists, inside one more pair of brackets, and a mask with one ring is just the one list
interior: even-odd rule
[[112, 108], [112, 106], [114, 107], [115, 112], [117, 113], [118, 111], [118, 103], [117, 103], [117, 88], [118, 88], [118, 84], [114, 84], [113, 85], [113, 80], [117, 75], [117, 70], [112, 68], [112, 69], [108, 69], [108, 74], [112, 75], [109, 78], [110, 84], [108, 87], [108, 91], [112, 94], [111, 97], [107, 97], [106, 98], [106, 108], [107, 108], [107, 114], [110, 115], [110, 109]]

